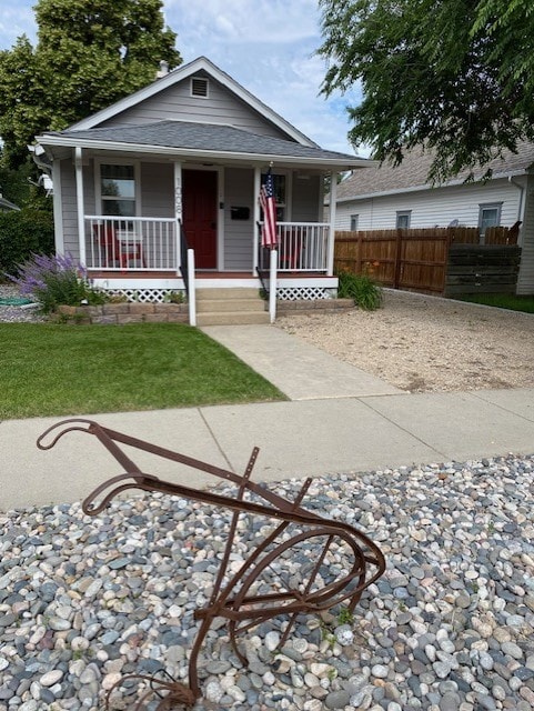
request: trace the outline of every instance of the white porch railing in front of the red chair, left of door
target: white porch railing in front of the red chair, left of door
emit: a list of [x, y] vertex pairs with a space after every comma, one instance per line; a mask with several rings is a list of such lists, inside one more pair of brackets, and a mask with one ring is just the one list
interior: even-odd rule
[[115, 271], [177, 271], [177, 221], [85, 216], [85, 266]]

